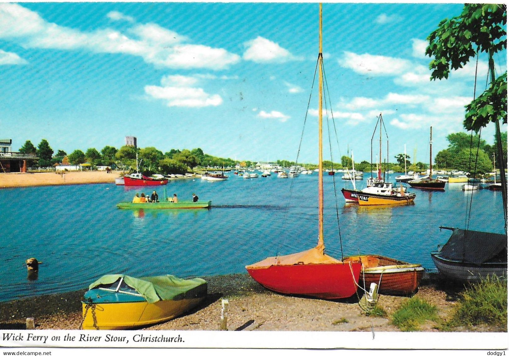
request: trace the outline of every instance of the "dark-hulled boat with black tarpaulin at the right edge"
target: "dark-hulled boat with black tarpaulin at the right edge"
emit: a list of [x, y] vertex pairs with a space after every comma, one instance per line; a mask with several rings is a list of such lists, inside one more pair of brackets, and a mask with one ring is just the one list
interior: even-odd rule
[[507, 277], [507, 235], [440, 226], [453, 231], [444, 245], [431, 253], [447, 279], [480, 282], [488, 276]]

